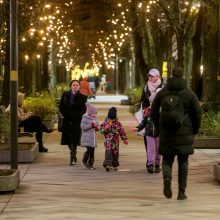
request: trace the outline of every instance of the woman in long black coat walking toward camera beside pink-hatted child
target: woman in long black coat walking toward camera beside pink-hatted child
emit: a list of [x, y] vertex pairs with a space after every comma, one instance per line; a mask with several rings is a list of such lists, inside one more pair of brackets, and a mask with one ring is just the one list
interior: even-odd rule
[[63, 119], [61, 145], [68, 145], [70, 149], [70, 165], [77, 161], [77, 146], [80, 145], [82, 115], [86, 112], [87, 96], [79, 92], [80, 82], [72, 80], [70, 90], [64, 92], [59, 110]]

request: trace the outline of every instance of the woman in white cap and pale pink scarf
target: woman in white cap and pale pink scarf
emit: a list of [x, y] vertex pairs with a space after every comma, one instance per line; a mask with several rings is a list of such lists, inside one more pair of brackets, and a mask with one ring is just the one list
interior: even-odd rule
[[[152, 98], [157, 94], [157, 92], [163, 87], [163, 82], [160, 78], [160, 72], [157, 69], [150, 69], [148, 72], [148, 81], [143, 88], [141, 94], [140, 104], [142, 106], [143, 112], [150, 106], [149, 97]], [[144, 145], [147, 155], [147, 138], [144, 136]], [[152, 172], [152, 168], [148, 166], [148, 156], [146, 161], [146, 168], [148, 172]]]

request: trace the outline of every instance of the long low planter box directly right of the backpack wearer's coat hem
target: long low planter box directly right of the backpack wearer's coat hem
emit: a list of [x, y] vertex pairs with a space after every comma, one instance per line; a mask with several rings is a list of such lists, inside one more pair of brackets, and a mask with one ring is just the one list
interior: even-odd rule
[[194, 139], [194, 148], [220, 149], [220, 138], [216, 137], [196, 137]]

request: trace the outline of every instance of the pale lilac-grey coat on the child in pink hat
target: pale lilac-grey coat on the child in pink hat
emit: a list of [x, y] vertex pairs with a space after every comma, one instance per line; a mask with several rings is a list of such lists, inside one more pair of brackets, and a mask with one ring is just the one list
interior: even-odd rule
[[82, 147], [96, 147], [96, 130], [92, 127], [92, 123], [98, 125], [97, 119], [92, 118], [88, 114], [84, 114], [81, 121], [81, 146]]

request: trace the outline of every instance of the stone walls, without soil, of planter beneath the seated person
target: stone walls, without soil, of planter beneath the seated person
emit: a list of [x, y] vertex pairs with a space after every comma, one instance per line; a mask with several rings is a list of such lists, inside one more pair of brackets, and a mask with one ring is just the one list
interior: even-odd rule
[[[21, 145], [22, 143], [19, 143]], [[23, 143], [27, 144], [27, 143]], [[39, 154], [39, 146], [38, 143], [28, 143], [32, 145], [32, 148], [29, 150], [18, 150], [18, 162], [27, 163], [33, 162], [38, 154]], [[0, 151], [0, 162], [1, 163], [9, 163], [11, 161], [11, 155], [9, 150], [1, 150]]]

